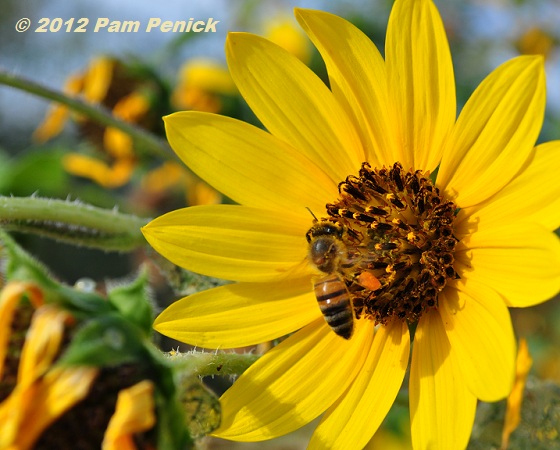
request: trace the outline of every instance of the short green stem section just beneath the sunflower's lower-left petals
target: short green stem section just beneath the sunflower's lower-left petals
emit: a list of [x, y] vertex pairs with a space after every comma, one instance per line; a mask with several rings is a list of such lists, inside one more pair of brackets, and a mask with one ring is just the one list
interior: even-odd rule
[[187, 352], [169, 354], [173, 362], [188, 372], [188, 375], [241, 375], [260, 355], [253, 353], [206, 353]]

